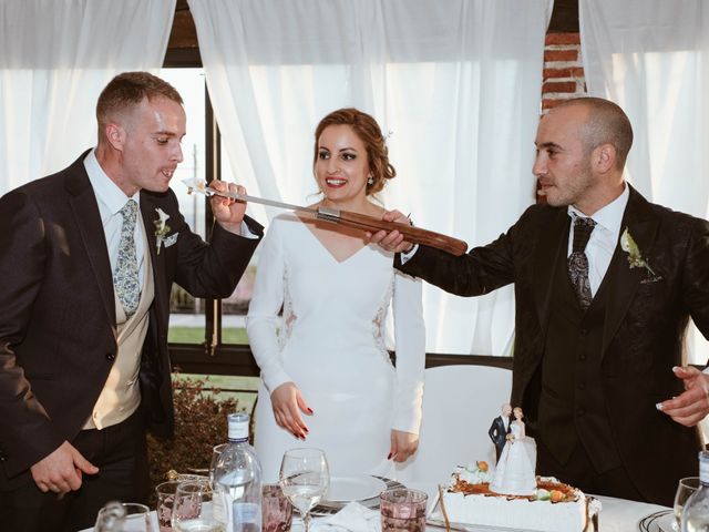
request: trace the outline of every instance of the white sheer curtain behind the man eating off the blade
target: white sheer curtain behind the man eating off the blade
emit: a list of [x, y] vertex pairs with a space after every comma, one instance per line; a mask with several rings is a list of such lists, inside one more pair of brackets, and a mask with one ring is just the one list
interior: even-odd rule
[[176, 0], [0, 0], [0, 194], [95, 145], [95, 103], [163, 63]]

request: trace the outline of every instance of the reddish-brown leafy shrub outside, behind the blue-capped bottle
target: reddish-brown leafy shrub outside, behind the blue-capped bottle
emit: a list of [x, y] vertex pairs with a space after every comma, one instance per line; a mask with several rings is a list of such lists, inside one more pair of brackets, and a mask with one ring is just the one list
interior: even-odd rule
[[[189, 379], [173, 374], [175, 436], [172, 439], [147, 436], [151, 484], [155, 488], [168, 471], [205, 472], [212, 461], [212, 448], [227, 440], [226, 417], [237, 411], [236, 399], [219, 399], [216, 388], [206, 391], [206, 379]], [[154, 504], [154, 492], [151, 503]]]

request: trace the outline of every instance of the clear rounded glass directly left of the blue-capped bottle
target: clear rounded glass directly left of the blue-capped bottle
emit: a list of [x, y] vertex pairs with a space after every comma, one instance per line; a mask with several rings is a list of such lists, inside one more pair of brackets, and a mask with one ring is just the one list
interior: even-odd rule
[[175, 532], [225, 532], [226, 521], [219, 508], [220, 493], [209, 481], [182, 482], [175, 490], [172, 525]]

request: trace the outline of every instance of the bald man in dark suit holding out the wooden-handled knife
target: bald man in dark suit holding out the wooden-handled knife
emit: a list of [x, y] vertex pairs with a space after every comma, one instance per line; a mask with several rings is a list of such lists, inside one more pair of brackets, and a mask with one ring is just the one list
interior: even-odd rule
[[511, 402], [536, 438], [538, 473], [671, 505], [678, 479], [697, 474], [690, 427], [709, 412], [707, 376], [680, 367], [689, 317], [709, 332], [709, 224], [624, 181], [631, 142], [616, 104], [572, 100], [537, 129], [546, 205], [495, 242], [454, 257], [397, 232], [372, 241], [408, 252], [397, 267], [453, 294], [514, 283]]

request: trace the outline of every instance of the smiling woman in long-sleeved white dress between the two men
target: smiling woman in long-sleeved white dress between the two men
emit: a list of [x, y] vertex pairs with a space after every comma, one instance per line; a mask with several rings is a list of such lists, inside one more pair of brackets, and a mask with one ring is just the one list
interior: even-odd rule
[[[323, 206], [381, 217], [370, 196], [395, 175], [377, 122], [322, 119], [314, 173]], [[255, 444], [264, 480], [284, 452], [325, 451], [332, 475], [387, 475], [418, 446], [425, 357], [421, 283], [366, 235], [296, 214], [273, 219], [247, 317], [261, 371]], [[282, 307], [282, 314], [281, 314]], [[391, 307], [395, 368], [386, 346]]]

